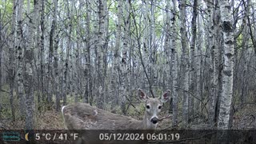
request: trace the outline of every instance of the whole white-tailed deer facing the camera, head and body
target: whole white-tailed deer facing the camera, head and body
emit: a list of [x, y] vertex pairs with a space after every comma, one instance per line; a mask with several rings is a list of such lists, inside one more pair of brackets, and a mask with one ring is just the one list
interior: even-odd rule
[[154, 130], [158, 124], [158, 114], [162, 103], [170, 99], [170, 90], [159, 98], [149, 98], [141, 89], [138, 97], [145, 102], [145, 114], [142, 121], [90, 106], [87, 103], [75, 103], [62, 106], [65, 126], [69, 130]]

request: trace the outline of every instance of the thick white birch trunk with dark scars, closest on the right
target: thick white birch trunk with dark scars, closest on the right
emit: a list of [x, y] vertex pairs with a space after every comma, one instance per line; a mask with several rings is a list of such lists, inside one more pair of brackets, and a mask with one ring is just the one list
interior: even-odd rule
[[222, 80], [222, 98], [218, 117], [218, 129], [226, 130], [229, 126], [230, 105], [233, 95], [233, 68], [234, 68], [234, 31], [233, 18], [228, 0], [220, 2], [222, 33], [224, 39], [224, 68]]

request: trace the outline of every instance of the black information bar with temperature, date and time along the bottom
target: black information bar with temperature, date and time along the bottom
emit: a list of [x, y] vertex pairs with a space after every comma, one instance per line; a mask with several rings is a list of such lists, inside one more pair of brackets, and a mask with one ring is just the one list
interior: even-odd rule
[[256, 130], [0, 130], [0, 143], [256, 143]]

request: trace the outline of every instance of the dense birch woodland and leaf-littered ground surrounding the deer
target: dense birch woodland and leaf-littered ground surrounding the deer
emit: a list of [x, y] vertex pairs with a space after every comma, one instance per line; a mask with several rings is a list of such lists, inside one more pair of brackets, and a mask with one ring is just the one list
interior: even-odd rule
[[0, 1], [0, 129], [63, 129], [73, 102], [162, 128], [255, 129], [254, 0]]

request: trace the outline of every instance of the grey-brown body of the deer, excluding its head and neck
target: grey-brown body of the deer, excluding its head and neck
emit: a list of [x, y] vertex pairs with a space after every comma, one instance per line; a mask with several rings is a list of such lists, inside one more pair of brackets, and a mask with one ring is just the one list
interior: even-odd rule
[[[66, 114], [69, 112], [69, 114]], [[146, 129], [145, 122], [134, 118], [112, 114], [108, 111], [76, 103], [65, 106], [63, 115], [67, 129], [70, 130], [140, 130]]]

